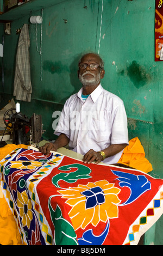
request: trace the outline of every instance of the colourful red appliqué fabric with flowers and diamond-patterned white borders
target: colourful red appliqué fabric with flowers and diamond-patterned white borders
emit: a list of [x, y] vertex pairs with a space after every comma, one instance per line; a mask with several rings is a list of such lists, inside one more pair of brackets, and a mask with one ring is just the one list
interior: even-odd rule
[[15, 149], [1, 186], [24, 245], [135, 245], [162, 214], [163, 180]]

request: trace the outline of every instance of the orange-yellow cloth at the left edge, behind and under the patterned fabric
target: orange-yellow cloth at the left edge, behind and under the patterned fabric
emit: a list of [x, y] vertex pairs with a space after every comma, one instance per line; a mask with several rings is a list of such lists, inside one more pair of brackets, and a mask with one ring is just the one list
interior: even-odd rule
[[[0, 161], [14, 149], [25, 148], [27, 145], [8, 144], [0, 148]], [[9, 208], [7, 201], [2, 194], [0, 186], [0, 244], [1, 245], [22, 245], [21, 235], [18, 231], [16, 221]]]

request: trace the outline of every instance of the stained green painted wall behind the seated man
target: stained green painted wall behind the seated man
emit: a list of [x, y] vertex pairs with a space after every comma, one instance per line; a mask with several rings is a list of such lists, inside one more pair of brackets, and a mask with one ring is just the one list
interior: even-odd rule
[[[77, 76], [79, 57], [85, 52], [99, 51], [105, 62], [102, 85], [124, 101], [129, 139], [139, 137], [146, 157], [153, 166], [151, 174], [155, 178], [163, 178], [163, 63], [154, 62], [155, 1], [104, 0], [103, 13], [102, 0], [54, 0], [53, 6], [44, 6], [42, 81], [40, 55], [36, 51], [36, 25], [29, 22], [30, 16], [41, 15], [41, 5], [37, 11], [33, 8], [39, 2], [42, 1], [36, 0], [26, 15], [19, 15], [18, 19], [12, 21], [11, 35], [4, 36], [5, 84], [3, 89], [0, 81], [0, 106], [6, 105], [13, 97], [19, 38], [16, 29], [24, 23], [29, 24], [33, 93], [30, 103], [20, 102], [21, 112], [29, 116], [33, 113], [42, 115], [45, 139], [55, 139], [52, 129], [53, 112], [61, 111], [65, 100], [80, 89]], [[30, 6], [29, 3], [27, 6]], [[41, 25], [37, 25], [39, 48], [40, 33]], [[2, 35], [1, 23], [0, 38]], [[0, 64], [2, 66], [2, 58]], [[158, 225], [161, 227], [160, 223]]]

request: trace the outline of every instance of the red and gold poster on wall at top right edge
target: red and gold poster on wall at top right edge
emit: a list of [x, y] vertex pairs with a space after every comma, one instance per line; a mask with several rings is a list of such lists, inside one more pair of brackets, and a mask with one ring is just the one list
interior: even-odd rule
[[155, 62], [163, 60], [163, 0], [155, 0]]

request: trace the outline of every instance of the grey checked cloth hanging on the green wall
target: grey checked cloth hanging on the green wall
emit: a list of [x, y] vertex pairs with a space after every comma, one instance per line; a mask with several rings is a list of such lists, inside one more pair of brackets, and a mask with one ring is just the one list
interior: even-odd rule
[[24, 24], [17, 47], [14, 96], [16, 96], [16, 100], [28, 102], [30, 102], [32, 94], [32, 84], [30, 81], [29, 46], [30, 38], [28, 25]]

